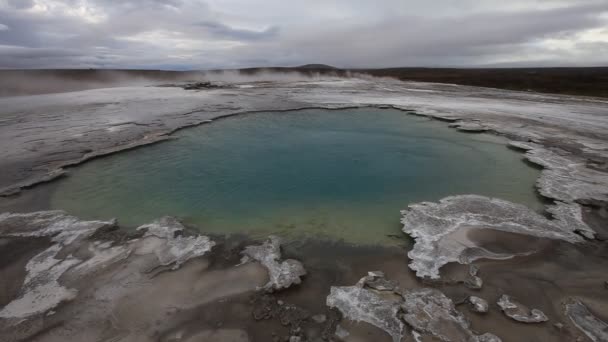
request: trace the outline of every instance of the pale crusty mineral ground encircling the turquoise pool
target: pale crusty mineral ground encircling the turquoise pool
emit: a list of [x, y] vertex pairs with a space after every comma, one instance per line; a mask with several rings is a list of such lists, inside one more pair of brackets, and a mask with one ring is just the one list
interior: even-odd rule
[[[400, 246], [366, 247], [32, 212], [36, 184], [67, 166], [183, 127], [353, 106], [506, 136], [542, 168], [545, 213], [475, 194], [410, 203]], [[606, 341], [603, 100], [327, 78], [98, 89], [3, 98], [0, 108], [0, 205], [22, 212], [0, 214], [0, 340]]]

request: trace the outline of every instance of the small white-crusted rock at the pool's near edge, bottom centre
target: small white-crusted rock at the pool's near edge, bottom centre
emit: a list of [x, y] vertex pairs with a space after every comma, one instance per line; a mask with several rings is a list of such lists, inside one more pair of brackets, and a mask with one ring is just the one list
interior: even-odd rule
[[300, 284], [300, 278], [306, 275], [301, 262], [293, 259], [280, 262], [281, 241], [276, 236], [270, 236], [262, 245], [246, 247], [241, 254], [243, 254], [243, 263], [253, 259], [268, 269], [270, 280], [263, 289], [269, 292]]

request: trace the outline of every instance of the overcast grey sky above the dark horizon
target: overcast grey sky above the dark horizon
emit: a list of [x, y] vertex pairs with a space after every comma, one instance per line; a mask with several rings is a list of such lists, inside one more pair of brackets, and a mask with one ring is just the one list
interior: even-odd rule
[[608, 65], [608, 0], [0, 0], [0, 68]]

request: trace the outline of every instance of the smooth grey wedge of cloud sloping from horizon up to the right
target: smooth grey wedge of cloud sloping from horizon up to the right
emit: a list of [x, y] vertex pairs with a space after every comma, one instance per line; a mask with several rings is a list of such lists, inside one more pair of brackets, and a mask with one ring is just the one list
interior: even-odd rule
[[[471, 61], [483, 63], [488, 56], [521, 51], [524, 45], [546, 37], [605, 26], [597, 14], [606, 8], [583, 5], [459, 17], [401, 17], [333, 32], [309, 32], [263, 50], [275, 51], [286, 63], [295, 64], [316, 57], [355, 67], [471, 65], [475, 64]], [[245, 54], [251, 53], [255, 52]]]

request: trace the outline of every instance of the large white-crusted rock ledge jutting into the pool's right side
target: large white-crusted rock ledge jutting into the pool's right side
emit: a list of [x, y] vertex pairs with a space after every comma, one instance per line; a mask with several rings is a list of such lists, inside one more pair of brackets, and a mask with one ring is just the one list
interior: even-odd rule
[[[560, 207], [559, 212], [563, 208]], [[557, 215], [549, 220], [526, 206], [478, 195], [450, 196], [439, 203], [423, 202], [401, 212], [403, 232], [416, 240], [408, 253], [409, 267], [418, 277], [439, 278], [439, 268], [449, 262], [468, 264], [477, 258], [504, 259], [513, 254], [496, 254], [477, 246], [467, 232], [494, 229], [539, 238], [582, 242], [570, 221]], [[555, 212], [554, 212], [555, 215]], [[581, 228], [577, 226], [576, 230]], [[467, 255], [475, 251], [474, 256]]]

